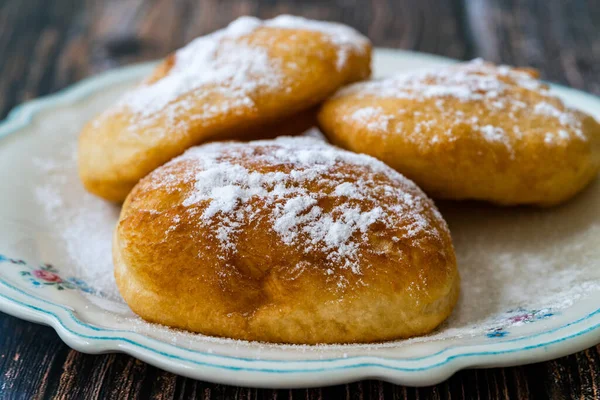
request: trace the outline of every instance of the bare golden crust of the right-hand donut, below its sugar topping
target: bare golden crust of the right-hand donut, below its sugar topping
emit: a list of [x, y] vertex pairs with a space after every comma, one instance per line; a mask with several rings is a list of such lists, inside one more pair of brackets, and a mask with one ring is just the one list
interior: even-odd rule
[[[525, 72], [537, 76], [533, 70]], [[444, 108], [452, 113], [442, 114], [436, 106], [439, 97], [416, 101], [361, 90], [329, 99], [318, 118], [332, 143], [379, 158], [434, 198], [551, 206], [570, 199], [594, 179], [600, 169], [600, 125], [594, 118], [576, 114], [586, 140], [571, 136], [548, 145], [545, 134], [556, 135], [565, 128], [533, 109], [545, 101], [565, 110], [560, 99], [518, 86], [510, 88], [504, 99], [526, 104], [515, 112], [516, 122], [507, 112], [490, 113], [483, 101], [446, 98]], [[391, 117], [387, 129], [372, 129], [371, 121], [348, 118], [367, 107], [378, 107]], [[480, 125], [502, 128], [510, 147], [485, 140], [469, 123], [453, 124], [453, 114], [459, 112], [465, 120], [475, 117]], [[426, 128], [416, 129], [424, 122], [429, 124]], [[396, 132], [399, 126], [401, 133]], [[522, 137], [513, 134], [514, 126]]]

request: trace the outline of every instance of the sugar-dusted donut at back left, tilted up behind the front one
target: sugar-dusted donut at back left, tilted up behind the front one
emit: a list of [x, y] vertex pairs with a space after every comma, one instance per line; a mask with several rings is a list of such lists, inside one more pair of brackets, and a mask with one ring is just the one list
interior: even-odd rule
[[[121, 202], [149, 172], [187, 148], [260, 132], [301, 133], [307, 112], [367, 78], [370, 42], [354, 29], [288, 15], [242, 17], [159, 64], [92, 119], [79, 139], [85, 188]], [[269, 129], [285, 123], [289, 130]]]

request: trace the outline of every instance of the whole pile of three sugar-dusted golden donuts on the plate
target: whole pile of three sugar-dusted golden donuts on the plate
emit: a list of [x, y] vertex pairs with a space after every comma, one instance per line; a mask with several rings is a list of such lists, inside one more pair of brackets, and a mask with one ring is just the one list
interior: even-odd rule
[[[600, 169], [600, 126], [535, 71], [367, 80], [370, 64], [347, 26], [242, 17], [87, 124], [80, 177], [124, 201], [113, 257], [134, 312], [277, 343], [426, 334], [460, 286], [428, 195], [550, 206]], [[339, 147], [299, 135], [315, 124]]]

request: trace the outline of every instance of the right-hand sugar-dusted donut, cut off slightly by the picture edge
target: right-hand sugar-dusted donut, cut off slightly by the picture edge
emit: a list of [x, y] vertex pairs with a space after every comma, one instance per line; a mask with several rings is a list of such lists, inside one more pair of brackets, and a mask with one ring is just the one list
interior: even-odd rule
[[597, 176], [600, 126], [537, 76], [481, 60], [399, 74], [341, 89], [318, 120], [434, 198], [552, 206]]

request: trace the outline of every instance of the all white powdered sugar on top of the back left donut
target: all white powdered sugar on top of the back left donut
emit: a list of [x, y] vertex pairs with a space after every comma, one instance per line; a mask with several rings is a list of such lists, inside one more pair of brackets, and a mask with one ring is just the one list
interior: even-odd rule
[[[312, 21], [301, 17], [281, 15], [261, 21], [254, 17], [241, 17], [226, 28], [199, 37], [179, 49], [166, 76], [154, 82], [147, 81], [127, 93], [120, 107], [127, 107], [138, 116], [138, 123], [149, 119], [161, 110], [173, 121], [178, 113], [190, 105], [181, 96], [210, 88], [225, 101], [207, 106], [195, 118], [210, 117], [235, 109], [242, 112], [254, 106], [253, 96], [261, 89], [283, 87], [281, 65], [269, 56], [265, 47], [251, 45], [242, 40], [261, 27], [318, 31], [337, 49], [338, 69], [345, 67], [351, 52], [363, 53], [368, 40], [354, 29], [332, 22]], [[202, 96], [203, 93], [198, 93]]]

